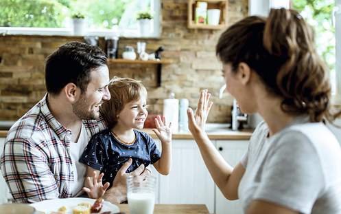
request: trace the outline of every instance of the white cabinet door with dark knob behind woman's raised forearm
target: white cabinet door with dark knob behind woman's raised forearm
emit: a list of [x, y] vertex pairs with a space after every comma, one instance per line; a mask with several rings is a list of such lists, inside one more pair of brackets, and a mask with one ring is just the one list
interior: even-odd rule
[[[216, 145], [217, 149], [220, 151], [228, 164], [235, 167], [235, 165], [241, 160], [242, 156], [248, 149], [248, 140], [217, 140]], [[242, 204], [239, 200], [227, 200], [220, 192], [220, 189], [216, 186], [215, 213], [242, 214]]]

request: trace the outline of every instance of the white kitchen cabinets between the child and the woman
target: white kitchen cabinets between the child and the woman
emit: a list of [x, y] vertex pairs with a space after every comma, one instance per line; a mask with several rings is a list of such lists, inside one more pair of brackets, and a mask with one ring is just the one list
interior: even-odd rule
[[[248, 140], [212, 140], [223, 158], [235, 166], [248, 147]], [[193, 140], [173, 140], [173, 165], [167, 176], [158, 175], [158, 203], [206, 204], [210, 213], [239, 214], [239, 200], [228, 201], [215, 186]]]

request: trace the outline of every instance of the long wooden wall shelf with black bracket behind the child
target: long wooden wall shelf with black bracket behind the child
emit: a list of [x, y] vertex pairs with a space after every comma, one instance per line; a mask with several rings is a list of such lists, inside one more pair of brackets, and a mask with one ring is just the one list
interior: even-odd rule
[[142, 64], [142, 65], [156, 65], [156, 78], [157, 78], [157, 87], [161, 86], [161, 71], [162, 65], [173, 63], [171, 59], [161, 59], [160, 61], [148, 60], [129, 60], [124, 58], [109, 58], [109, 64]]

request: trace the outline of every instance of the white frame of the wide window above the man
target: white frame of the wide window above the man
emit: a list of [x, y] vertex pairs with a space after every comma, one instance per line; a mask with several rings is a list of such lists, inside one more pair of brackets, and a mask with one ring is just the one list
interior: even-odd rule
[[[153, 14], [153, 34], [148, 38], [159, 38], [161, 36], [161, 0], [152, 0]], [[112, 29], [88, 30], [82, 35], [77, 36], [113, 36]], [[74, 36], [72, 28], [23, 28], [23, 27], [0, 27], [0, 35], [38, 35], [38, 36]], [[122, 29], [120, 36], [126, 38], [140, 38], [139, 29]]]

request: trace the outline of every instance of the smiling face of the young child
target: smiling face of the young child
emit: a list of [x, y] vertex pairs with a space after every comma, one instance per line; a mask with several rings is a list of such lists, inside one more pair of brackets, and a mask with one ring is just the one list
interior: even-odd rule
[[119, 113], [117, 125], [127, 129], [143, 129], [147, 116], [147, 100], [145, 96], [141, 96], [139, 100], [131, 101], [124, 106]]

